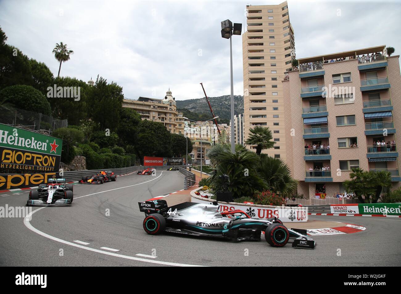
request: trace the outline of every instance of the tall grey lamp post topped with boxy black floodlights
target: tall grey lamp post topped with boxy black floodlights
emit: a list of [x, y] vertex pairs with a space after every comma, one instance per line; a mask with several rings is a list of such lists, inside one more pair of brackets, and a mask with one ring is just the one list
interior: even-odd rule
[[233, 82], [233, 45], [231, 35], [241, 35], [242, 24], [233, 24], [230, 20], [221, 22], [221, 37], [230, 39], [230, 73], [231, 73], [231, 152], [235, 154], [234, 140], [234, 82]]

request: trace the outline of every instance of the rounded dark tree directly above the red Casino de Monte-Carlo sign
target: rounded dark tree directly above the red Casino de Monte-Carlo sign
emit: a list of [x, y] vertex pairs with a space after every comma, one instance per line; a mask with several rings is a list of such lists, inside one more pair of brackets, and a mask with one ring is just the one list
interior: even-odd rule
[[141, 120], [135, 149], [141, 162], [144, 156], [172, 157], [171, 134], [160, 122]]

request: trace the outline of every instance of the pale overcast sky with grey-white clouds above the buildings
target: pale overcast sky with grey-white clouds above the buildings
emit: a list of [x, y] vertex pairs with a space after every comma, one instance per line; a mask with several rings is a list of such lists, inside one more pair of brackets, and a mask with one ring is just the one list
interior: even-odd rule
[[[220, 22], [246, 22], [245, 6], [283, 1], [22, 1], [0, 0], [7, 44], [45, 62], [57, 76], [52, 50], [74, 50], [62, 76], [88, 81], [97, 74], [123, 87], [124, 96], [176, 100], [230, 94], [229, 40]], [[393, 46], [400, 54], [400, 1], [288, 0], [297, 58]], [[338, 16], [340, 12], [340, 16]], [[244, 25], [243, 25], [244, 29]], [[242, 44], [233, 36], [234, 94], [243, 94]]]

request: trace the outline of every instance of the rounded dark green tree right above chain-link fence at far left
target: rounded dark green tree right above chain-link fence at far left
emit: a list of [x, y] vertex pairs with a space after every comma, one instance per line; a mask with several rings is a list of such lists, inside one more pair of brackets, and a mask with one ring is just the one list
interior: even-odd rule
[[38, 112], [46, 115], [51, 114], [50, 104], [45, 95], [32, 86], [14, 85], [0, 91], [0, 97], [4, 102], [13, 104], [16, 108]]

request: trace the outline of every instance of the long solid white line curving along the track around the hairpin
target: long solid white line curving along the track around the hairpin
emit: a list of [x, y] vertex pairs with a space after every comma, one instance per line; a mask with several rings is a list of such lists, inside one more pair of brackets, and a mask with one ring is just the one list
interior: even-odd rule
[[[160, 177], [162, 175], [162, 173], [163, 172], [161, 172], [158, 177]], [[149, 180], [147, 182], [156, 180], [157, 178], [154, 178], [154, 179]], [[136, 186], [136, 185], [140, 185], [140, 184], [145, 184], [147, 182], [143, 182], [143, 183], [139, 183], [139, 184], [135, 184], [135, 185], [131, 185], [131, 186], [126, 186], [126, 187], [121, 187], [121, 188], [115, 188], [115, 189], [111, 189], [111, 190], [107, 190], [107, 191], [103, 191], [103, 192], [92, 193], [92, 194], [88, 194], [88, 195], [77, 197], [75, 199], [82, 198], [82, 197], [85, 197], [85, 196], [91, 196], [91, 195], [95, 195], [95, 194], [99, 194], [99, 193], [109, 192], [109, 191], [113, 191], [113, 190], [118, 190], [118, 189], [122, 189], [122, 188], [128, 188], [128, 187], [132, 187], [132, 186]], [[36, 234], [41, 235], [41, 236], [43, 236], [45, 238], [51, 239], [53, 241], [57, 241], [57, 242], [60, 242], [60, 243], [63, 243], [63, 244], [67, 244], [67, 245], [70, 245], [70, 246], [78, 247], [78, 248], [81, 248], [81, 249], [85, 249], [85, 250], [89, 250], [89, 251], [93, 251], [93, 252], [97, 252], [97, 253], [101, 253], [101, 254], [106, 254], [106, 255], [115, 256], [115, 257], [119, 257], [119, 258], [129, 259], [129, 260], [137, 260], [137, 261], [150, 262], [150, 263], [155, 263], [155, 264], [163, 264], [163, 265], [168, 265], [168, 266], [198, 266], [198, 265], [194, 265], [194, 264], [182, 264], [182, 263], [175, 263], [175, 262], [149, 260], [149, 259], [138, 258], [138, 257], [134, 257], [134, 256], [117, 254], [117, 253], [113, 253], [113, 252], [108, 252], [108, 251], [104, 251], [104, 250], [99, 250], [99, 249], [95, 249], [95, 248], [91, 248], [91, 247], [75, 244], [75, 243], [72, 243], [72, 242], [69, 242], [69, 241], [65, 241], [63, 239], [51, 236], [49, 234], [46, 234], [46, 233], [44, 233], [42, 231], [39, 231], [38, 229], [34, 228], [30, 224], [30, 221], [29, 221], [30, 219], [32, 219], [32, 214], [34, 214], [35, 212], [37, 212], [39, 210], [42, 210], [43, 208], [46, 208], [46, 207], [44, 206], [44, 207], [38, 208], [38, 209], [33, 210], [32, 212], [30, 212], [29, 214], [27, 214], [25, 216], [25, 218], [24, 218], [24, 225], [29, 230], [31, 230], [32, 232], [35, 232]]]

